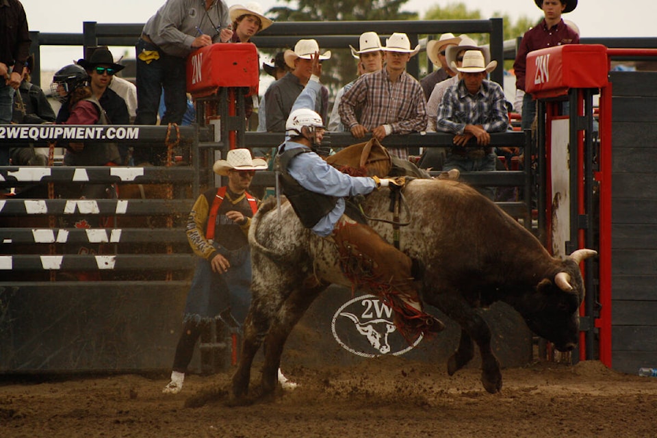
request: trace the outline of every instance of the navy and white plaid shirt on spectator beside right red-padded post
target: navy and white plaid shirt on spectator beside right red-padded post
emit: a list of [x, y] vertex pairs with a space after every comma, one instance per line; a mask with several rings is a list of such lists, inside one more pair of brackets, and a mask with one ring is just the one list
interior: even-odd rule
[[499, 83], [484, 79], [477, 94], [470, 94], [463, 79], [448, 88], [438, 107], [438, 131], [462, 134], [465, 125], [482, 125], [487, 132], [508, 129], [506, 99]]

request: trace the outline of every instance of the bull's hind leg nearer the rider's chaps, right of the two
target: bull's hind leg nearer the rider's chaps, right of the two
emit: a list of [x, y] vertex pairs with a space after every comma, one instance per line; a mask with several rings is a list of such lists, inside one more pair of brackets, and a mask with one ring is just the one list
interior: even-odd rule
[[[300, 282], [301, 283], [301, 282]], [[292, 291], [283, 305], [279, 309], [269, 329], [265, 341], [265, 361], [262, 366], [261, 376], [261, 396], [272, 394], [276, 389], [279, 366], [281, 364], [281, 355], [285, 341], [292, 332], [296, 323], [319, 296], [319, 294], [328, 287], [328, 283], [318, 284], [315, 278], [308, 279]]]

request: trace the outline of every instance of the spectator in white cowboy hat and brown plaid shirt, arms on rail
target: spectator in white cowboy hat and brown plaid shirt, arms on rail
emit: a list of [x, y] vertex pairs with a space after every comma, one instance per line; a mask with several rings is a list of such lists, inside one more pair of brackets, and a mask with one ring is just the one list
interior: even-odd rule
[[[376, 140], [390, 134], [406, 134], [426, 129], [426, 99], [420, 83], [406, 71], [411, 56], [420, 51], [420, 44], [411, 49], [407, 34], [394, 33], [382, 48], [385, 68], [359, 77], [342, 96], [339, 114], [342, 123], [355, 138], [371, 132]], [[361, 116], [357, 117], [358, 112]], [[390, 149], [391, 155], [408, 158], [407, 149]]]

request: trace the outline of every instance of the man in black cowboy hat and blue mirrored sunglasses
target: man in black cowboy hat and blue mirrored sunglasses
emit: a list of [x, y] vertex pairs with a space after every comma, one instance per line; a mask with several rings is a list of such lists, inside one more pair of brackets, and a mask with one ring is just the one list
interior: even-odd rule
[[[105, 110], [107, 122], [112, 125], [129, 125], [130, 114], [125, 99], [110, 88], [114, 75], [123, 70], [125, 66], [114, 62], [112, 52], [107, 47], [94, 48], [88, 59], [77, 60], [77, 64], [82, 66], [89, 75], [91, 92]], [[121, 155], [120, 164], [128, 163], [128, 149], [127, 144], [118, 145]]]

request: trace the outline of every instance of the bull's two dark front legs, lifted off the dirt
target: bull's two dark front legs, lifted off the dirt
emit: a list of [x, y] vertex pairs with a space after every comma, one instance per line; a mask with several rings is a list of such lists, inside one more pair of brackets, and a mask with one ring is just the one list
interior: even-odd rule
[[472, 340], [481, 354], [481, 383], [486, 391], [495, 394], [502, 389], [500, 363], [491, 348], [491, 329], [487, 322], [465, 300], [448, 295], [439, 295], [437, 307], [452, 320], [459, 323], [463, 333], [459, 348], [448, 361], [450, 375], [461, 369], [472, 359]]

